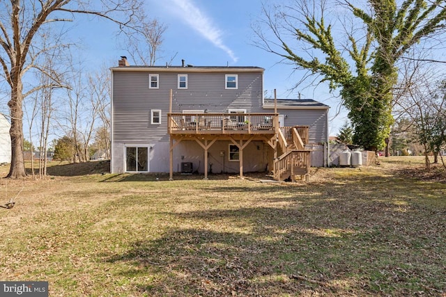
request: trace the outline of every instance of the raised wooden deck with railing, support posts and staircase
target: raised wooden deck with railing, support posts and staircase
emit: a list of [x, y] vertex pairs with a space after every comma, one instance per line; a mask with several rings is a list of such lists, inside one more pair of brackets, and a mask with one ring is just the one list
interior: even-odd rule
[[[274, 152], [272, 175], [284, 180], [295, 175], [308, 179], [310, 150], [305, 150], [309, 127], [281, 127], [277, 113], [169, 113], [170, 179], [173, 179], [173, 150], [181, 141], [196, 141], [208, 150], [215, 141], [231, 141], [239, 149], [240, 178], [243, 178], [243, 149], [251, 141], [264, 141]], [[280, 154], [280, 155], [279, 155]], [[208, 178], [208, 172], [204, 172]]]

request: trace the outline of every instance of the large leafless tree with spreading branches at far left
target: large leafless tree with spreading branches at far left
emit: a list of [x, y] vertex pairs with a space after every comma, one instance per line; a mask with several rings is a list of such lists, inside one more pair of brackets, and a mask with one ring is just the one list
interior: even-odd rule
[[141, 0], [0, 1], [0, 65], [2, 76], [10, 86], [11, 166], [8, 177], [26, 176], [22, 154], [23, 99], [44, 86], [36, 86], [24, 93], [23, 79], [29, 70], [40, 70], [38, 57], [47, 51], [47, 48], [34, 46], [38, 41], [38, 32], [56, 22], [71, 21], [78, 14], [102, 17], [121, 28], [133, 26], [134, 13], [141, 8], [142, 3]]

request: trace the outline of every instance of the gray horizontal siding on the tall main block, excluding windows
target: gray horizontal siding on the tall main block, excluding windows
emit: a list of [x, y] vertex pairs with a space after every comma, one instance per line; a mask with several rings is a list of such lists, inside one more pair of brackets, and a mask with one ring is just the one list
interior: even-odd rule
[[[159, 88], [148, 88], [148, 74], [159, 74]], [[261, 111], [262, 72], [185, 73], [188, 88], [178, 89], [178, 74], [183, 72], [114, 72], [114, 141], [168, 141], [167, 113], [169, 93], [173, 90], [172, 112], [205, 110], [227, 113], [228, 109]], [[238, 74], [238, 89], [226, 90], [225, 74]], [[151, 109], [161, 109], [161, 125], [151, 125]]]

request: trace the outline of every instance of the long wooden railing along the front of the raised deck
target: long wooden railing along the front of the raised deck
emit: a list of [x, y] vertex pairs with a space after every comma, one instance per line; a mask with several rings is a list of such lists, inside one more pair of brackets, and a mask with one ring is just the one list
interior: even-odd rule
[[274, 113], [170, 113], [170, 134], [275, 133]]

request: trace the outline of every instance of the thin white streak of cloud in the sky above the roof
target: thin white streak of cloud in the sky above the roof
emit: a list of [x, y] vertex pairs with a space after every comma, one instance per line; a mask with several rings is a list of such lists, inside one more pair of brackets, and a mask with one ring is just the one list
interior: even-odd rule
[[174, 3], [181, 10], [180, 16], [192, 29], [212, 42], [215, 47], [225, 51], [234, 62], [237, 62], [238, 58], [234, 52], [224, 45], [222, 39], [223, 32], [213, 25], [212, 19], [204, 15], [191, 0], [174, 0]]

